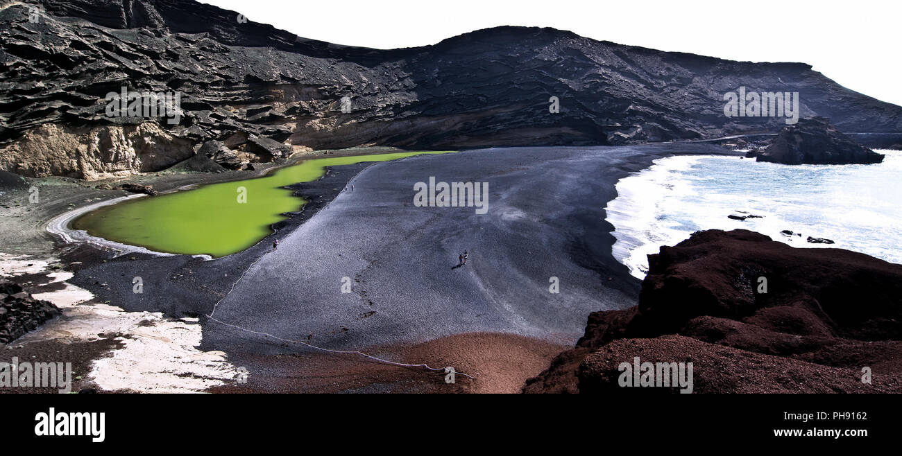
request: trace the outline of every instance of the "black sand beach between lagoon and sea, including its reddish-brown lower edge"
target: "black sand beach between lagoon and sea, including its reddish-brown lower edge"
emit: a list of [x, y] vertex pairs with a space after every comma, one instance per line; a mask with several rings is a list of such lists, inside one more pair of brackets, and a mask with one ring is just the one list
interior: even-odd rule
[[[81, 263], [69, 282], [100, 301], [200, 317], [200, 349], [226, 351], [251, 374], [246, 385], [214, 390], [450, 390], [443, 372], [226, 325], [235, 324], [475, 375], [458, 376], [455, 391], [516, 391], [573, 345], [590, 312], [635, 306], [640, 281], [613, 259], [603, 207], [620, 178], [673, 154], [739, 152], [689, 143], [503, 148], [336, 167], [294, 186], [310, 203], [234, 255], [113, 258], [70, 246], [62, 258]], [[352, 177], [353, 192], [334, 190]], [[430, 177], [488, 182], [488, 213], [414, 206], [414, 184]], [[275, 238], [281, 243], [272, 251]], [[469, 260], [454, 268], [462, 251]], [[143, 279], [143, 294], [133, 293], [134, 277]], [[552, 277], [558, 294], [549, 292]], [[343, 280], [351, 293], [342, 293]]]

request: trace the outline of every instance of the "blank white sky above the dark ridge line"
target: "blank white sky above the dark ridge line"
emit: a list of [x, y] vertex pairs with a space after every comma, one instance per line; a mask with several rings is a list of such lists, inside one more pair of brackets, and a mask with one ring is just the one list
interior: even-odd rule
[[391, 49], [497, 25], [723, 59], [800, 61], [902, 105], [898, 0], [200, 0], [304, 38]]

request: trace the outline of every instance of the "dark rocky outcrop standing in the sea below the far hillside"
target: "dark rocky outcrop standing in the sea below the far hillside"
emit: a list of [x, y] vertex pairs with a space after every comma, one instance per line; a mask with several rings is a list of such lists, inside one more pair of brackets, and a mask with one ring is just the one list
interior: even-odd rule
[[758, 154], [758, 161], [787, 165], [849, 165], [883, 161], [879, 154], [836, 130], [829, 119], [812, 117], [781, 130], [770, 146]]

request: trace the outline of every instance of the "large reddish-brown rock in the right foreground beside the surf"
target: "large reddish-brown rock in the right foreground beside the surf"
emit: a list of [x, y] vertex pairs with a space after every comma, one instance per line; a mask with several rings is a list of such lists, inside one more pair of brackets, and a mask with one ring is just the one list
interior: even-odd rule
[[[639, 306], [590, 315], [576, 348], [524, 391], [620, 388], [617, 367], [634, 356], [689, 357], [696, 392], [902, 391], [902, 265], [745, 230], [695, 233], [649, 255]], [[729, 372], [713, 369], [723, 363]]]

